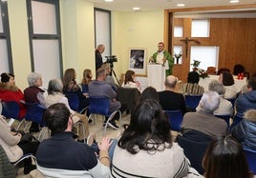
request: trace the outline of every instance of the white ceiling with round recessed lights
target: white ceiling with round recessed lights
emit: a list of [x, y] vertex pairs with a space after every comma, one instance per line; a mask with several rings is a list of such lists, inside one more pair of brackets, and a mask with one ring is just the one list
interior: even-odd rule
[[[132, 11], [134, 7], [140, 10], [168, 10], [213, 6], [230, 6], [256, 4], [256, 0], [240, 0], [239, 3], [231, 4], [229, 0], [114, 0], [114, 2], [105, 2], [104, 0], [91, 0], [95, 7], [103, 10]], [[183, 3], [185, 7], [177, 7], [177, 4]]]

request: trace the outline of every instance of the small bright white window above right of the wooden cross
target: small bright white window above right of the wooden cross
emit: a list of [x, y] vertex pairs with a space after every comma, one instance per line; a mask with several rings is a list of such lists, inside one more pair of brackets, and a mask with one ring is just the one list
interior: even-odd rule
[[207, 19], [193, 19], [191, 27], [192, 37], [209, 37], [210, 23]]

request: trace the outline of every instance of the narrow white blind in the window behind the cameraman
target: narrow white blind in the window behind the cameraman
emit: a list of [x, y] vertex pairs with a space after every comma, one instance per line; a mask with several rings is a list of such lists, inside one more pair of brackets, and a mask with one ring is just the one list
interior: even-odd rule
[[103, 44], [105, 51], [102, 53], [102, 59], [110, 53], [110, 14], [107, 11], [96, 10], [96, 46]]

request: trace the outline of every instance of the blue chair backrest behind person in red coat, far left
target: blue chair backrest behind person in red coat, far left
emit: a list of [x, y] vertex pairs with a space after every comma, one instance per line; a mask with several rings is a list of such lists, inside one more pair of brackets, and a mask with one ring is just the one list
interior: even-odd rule
[[2, 115], [6, 118], [18, 119], [19, 106], [15, 101], [1, 101]]

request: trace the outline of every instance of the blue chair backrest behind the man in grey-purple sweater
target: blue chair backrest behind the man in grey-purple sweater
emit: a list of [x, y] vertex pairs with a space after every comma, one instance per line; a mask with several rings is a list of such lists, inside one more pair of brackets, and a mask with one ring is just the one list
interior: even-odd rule
[[109, 98], [108, 97], [90, 97], [89, 113], [101, 114], [108, 116]]

